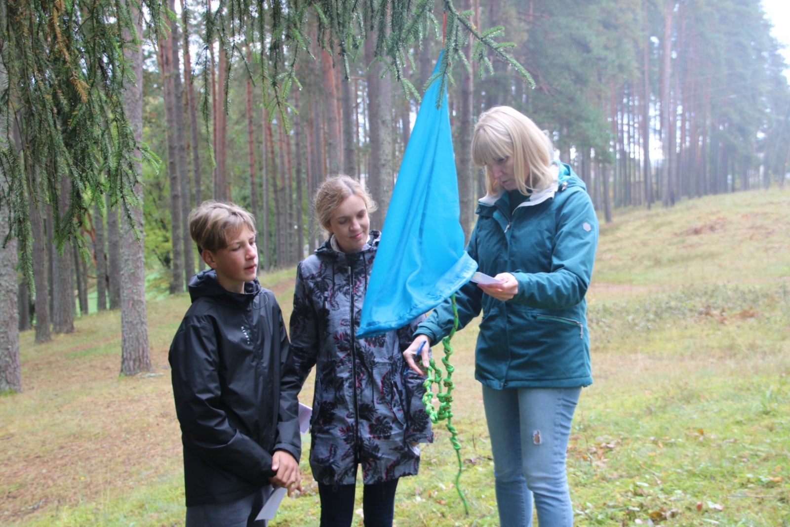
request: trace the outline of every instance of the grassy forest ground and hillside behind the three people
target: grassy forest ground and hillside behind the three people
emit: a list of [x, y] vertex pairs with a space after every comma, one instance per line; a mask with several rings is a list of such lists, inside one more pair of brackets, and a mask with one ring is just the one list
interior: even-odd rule
[[[286, 318], [292, 277], [261, 277]], [[790, 525], [790, 190], [620, 211], [601, 228], [588, 299], [596, 382], [569, 449], [576, 525]], [[118, 313], [51, 344], [21, 336], [24, 393], [0, 398], [0, 525], [182, 525], [167, 347], [188, 303], [149, 302], [154, 372], [136, 378], [118, 377]], [[476, 332], [453, 340], [471, 514], [438, 426], [398, 488], [399, 527], [498, 523]], [[302, 465], [305, 492], [273, 525], [318, 523]]]

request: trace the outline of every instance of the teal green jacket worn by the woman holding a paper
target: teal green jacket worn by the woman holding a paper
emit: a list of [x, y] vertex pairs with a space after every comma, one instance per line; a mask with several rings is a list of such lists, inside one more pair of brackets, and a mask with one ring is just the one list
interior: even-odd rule
[[[495, 389], [592, 384], [585, 293], [598, 220], [585, 184], [566, 164], [559, 164], [553, 196], [541, 194], [512, 216], [507, 193], [481, 199], [467, 247], [480, 272], [512, 273], [518, 280], [517, 295], [506, 302], [471, 282], [456, 294], [459, 328], [483, 311], [475, 378]], [[435, 344], [452, 326], [447, 300], [415, 333]]]

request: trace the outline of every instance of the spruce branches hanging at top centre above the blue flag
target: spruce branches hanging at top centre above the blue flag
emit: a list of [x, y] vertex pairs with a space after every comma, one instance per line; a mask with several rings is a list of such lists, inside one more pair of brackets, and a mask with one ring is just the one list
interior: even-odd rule
[[[442, 37], [442, 28], [434, 17], [434, 10], [441, 6], [446, 17], [444, 52], [439, 71], [429, 83], [435, 77], [441, 77], [442, 85], [452, 82], [453, 62], [460, 61], [470, 68], [463, 50], [472, 38], [475, 40], [472, 58], [480, 62], [481, 75], [493, 73], [494, 58], [512, 66], [530, 87], [534, 86], [527, 70], [508, 52], [513, 43], [498, 42], [504, 30], [498, 27], [481, 31], [472, 23], [472, 12], [459, 12], [452, 0], [220, 0], [211, 6], [205, 13], [205, 47], [196, 67], [201, 61], [205, 66], [216, 40], [230, 56], [228, 64], [234, 55], [243, 57], [240, 40], [246, 36], [258, 50], [260, 78], [268, 87], [263, 90], [264, 104], [269, 115], [279, 115], [286, 127], [288, 113], [293, 110], [288, 104], [288, 92], [293, 85], [300, 86], [295, 73], [297, 58], [300, 54], [310, 55], [313, 43], [307, 34], [310, 24], [317, 27], [318, 47], [340, 62], [347, 80], [349, 63], [357, 57], [363, 42], [373, 36], [374, 62], [385, 66], [382, 75], [392, 73], [404, 94], [419, 100], [419, 93], [404, 71], [407, 66], [416, 70], [413, 56], [417, 49], [422, 49], [426, 38]], [[203, 71], [203, 82], [208, 87], [209, 73], [205, 67]], [[227, 78], [225, 72], [225, 97]], [[203, 92], [202, 113], [208, 122], [209, 100], [205, 94], [210, 90], [205, 88]]]

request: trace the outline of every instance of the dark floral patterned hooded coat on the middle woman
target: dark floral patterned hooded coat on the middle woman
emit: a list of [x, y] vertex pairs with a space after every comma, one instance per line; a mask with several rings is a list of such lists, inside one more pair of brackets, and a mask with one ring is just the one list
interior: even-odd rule
[[411, 445], [433, 440], [423, 378], [403, 359], [424, 317], [354, 337], [379, 235], [371, 231], [355, 254], [333, 250], [327, 240], [296, 271], [291, 348], [302, 383], [316, 367], [310, 468], [322, 484], [353, 484], [357, 465], [364, 484], [416, 474], [419, 448]]

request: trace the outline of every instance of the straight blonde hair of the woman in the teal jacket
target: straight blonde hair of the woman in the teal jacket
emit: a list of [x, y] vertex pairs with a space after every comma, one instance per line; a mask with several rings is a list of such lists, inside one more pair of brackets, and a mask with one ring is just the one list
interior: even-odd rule
[[[495, 106], [480, 114], [472, 136], [472, 161], [486, 167], [488, 194], [498, 194], [499, 183], [487, 165], [513, 156], [513, 175], [521, 194], [544, 190], [554, 182], [551, 140], [532, 119], [509, 106]], [[518, 177], [518, 175], [523, 175]]]

